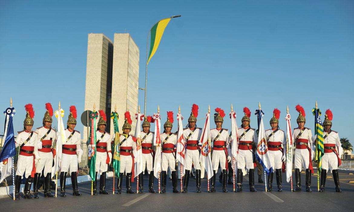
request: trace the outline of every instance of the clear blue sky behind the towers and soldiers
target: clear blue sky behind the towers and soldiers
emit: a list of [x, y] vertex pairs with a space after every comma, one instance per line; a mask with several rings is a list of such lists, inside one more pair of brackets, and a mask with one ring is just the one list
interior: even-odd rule
[[0, 107], [12, 97], [15, 130], [22, 129], [27, 103], [34, 106], [35, 127], [46, 102], [57, 108], [60, 100], [65, 111], [74, 104], [80, 115], [89, 33], [112, 40], [114, 33], [130, 33], [140, 49], [144, 87], [148, 30], [159, 19], [182, 15], [171, 20], [148, 66], [149, 115], [159, 104], [164, 122], [166, 111], [177, 113], [181, 105], [188, 118], [195, 103], [201, 119], [209, 104], [228, 114], [232, 103], [238, 124], [247, 106], [256, 127], [253, 112], [261, 102], [265, 126], [277, 107], [284, 128], [286, 106], [296, 127], [295, 105], [301, 104], [313, 129], [317, 100], [323, 113], [332, 110], [333, 130], [354, 144], [353, 11], [353, 1], [0, 1]]

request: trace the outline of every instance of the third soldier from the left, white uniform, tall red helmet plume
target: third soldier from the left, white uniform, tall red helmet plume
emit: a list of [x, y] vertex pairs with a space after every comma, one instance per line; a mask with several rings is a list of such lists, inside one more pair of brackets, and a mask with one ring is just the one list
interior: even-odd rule
[[60, 196], [65, 197], [65, 181], [70, 169], [70, 177], [73, 185], [73, 195], [81, 196], [78, 189], [78, 161], [81, 161], [81, 134], [79, 131], [74, 130], [76, 126], [76, 107], [70, 106], [70, 114], [67, 121], [67, 129], [65, 130], [65, 144], [62, 149], [62, 164], [60, 168]]

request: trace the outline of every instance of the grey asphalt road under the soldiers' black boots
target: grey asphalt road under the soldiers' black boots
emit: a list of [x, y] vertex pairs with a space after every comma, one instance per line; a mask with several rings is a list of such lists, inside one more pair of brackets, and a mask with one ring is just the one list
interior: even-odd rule
[[[257, 171], [255, 170], [255, 173]], [[316, 171], [315, 171], [316, 173]], [[283, 192], [276, 191], [275, 175], [273, 179], [272, 192], [265, 193], [264, 183], [255, 183], [258, 192], [251, 193], [248, 186], [248, 175], [244, 176], [244, 186], [242, 193], [234, 193], [233, 185], [228, 185], [228, 193], [222, 193], [222, 185], [216, 182], [216, 193], [207, 193], [207, 180], [202, 179], [202, 193], [196, 193], [195, 180], [189, 179], [189, 191], [187, 194], [172, 193], [172, 183], [167, 179], [166, 194], [146, 193], [148, 185], [148, 175], [144, 175], [144, 194], [120, 195], [97, 195], [91, 196], [91, 183], [80, 183], [79, 190], [82, 196], [72, 196], [72, 186], [67, 186], [67, 197], [45, 198], [40, 191], [40, 198], [36, 200], [26, 200], [22, 198], [13, 201], [11, 197], [0, 199], [1, 211], [354, 211], [354, 180], [353, 171], [340, 171], [339, 179], [342, 193], [335, 192], [335, 185], [332, 174], [327, 174], [326, 191], [317, 191], [317, 176], [312, 176], [312, 193], [305, 192], [305, 173], [302, 173], [303, 191], [291, 192], [290, 183], [283, 176]], [[257, 175], [256, 175], [257, 177]], [[331, 177], [331, 178], [329, 178]], [[293, 176], [295, 186], [295, 177]], [[99, 183], [98, 183], [99, 184]], [[178, 185], [180, 185], [178, 181]], [[113, 179], [107, 179], [107, 188], [112, 192]], [[125, 192], [125, 179], [123, 181]], [[155, 180], [155, 190], [158, 190], [157, 180]], [[136, 183], [133, 183], [136, 189]]]

